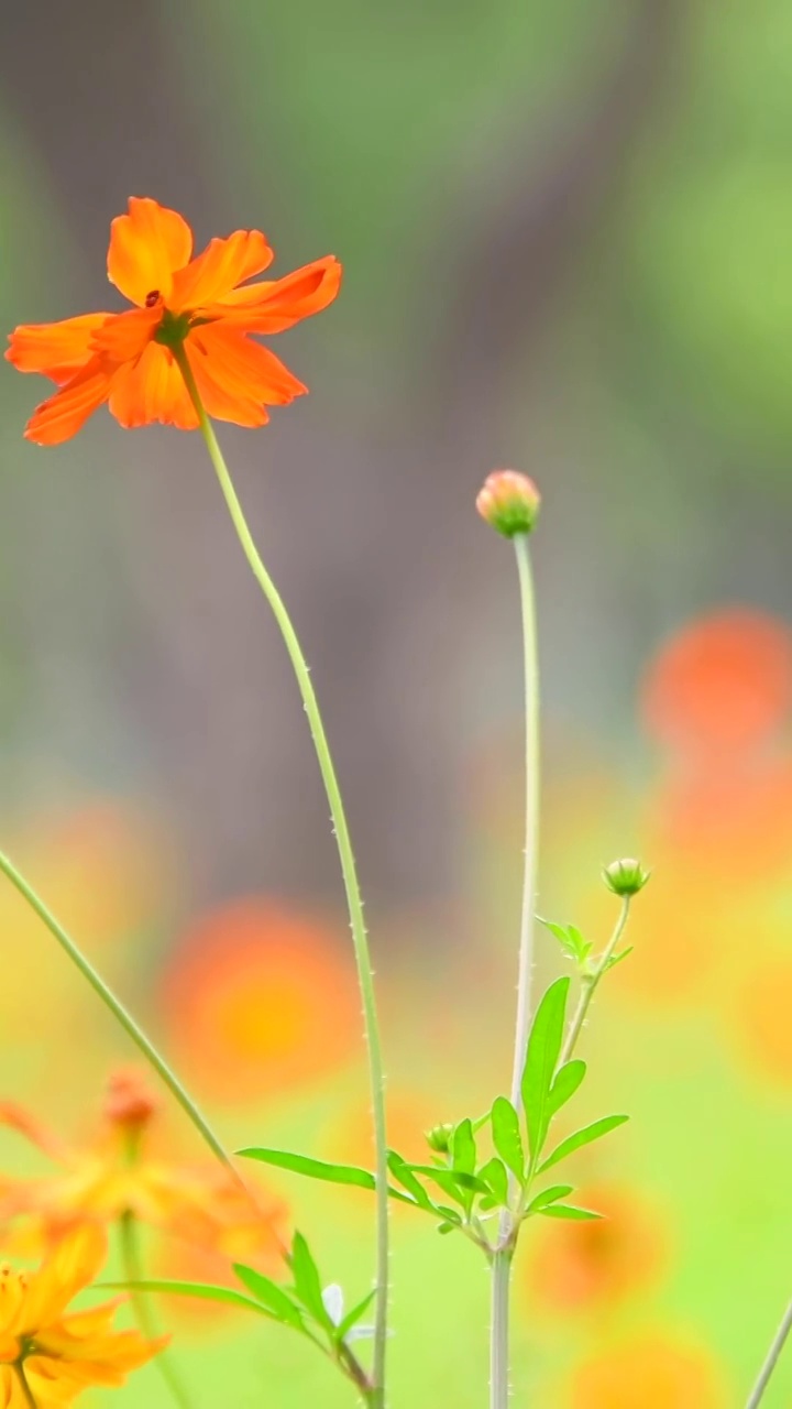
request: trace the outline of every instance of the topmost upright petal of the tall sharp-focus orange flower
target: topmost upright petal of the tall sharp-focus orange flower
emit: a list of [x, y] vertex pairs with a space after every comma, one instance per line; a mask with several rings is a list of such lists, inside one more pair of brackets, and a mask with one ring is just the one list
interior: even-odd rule
[[110, 225], [107, 278], [131, 303], [144, 306], [154, 290], [168, 302], [173, 273], [192, 252], [193, 232], [178, 211], [148, 196], [130, 196], [128, 216]]

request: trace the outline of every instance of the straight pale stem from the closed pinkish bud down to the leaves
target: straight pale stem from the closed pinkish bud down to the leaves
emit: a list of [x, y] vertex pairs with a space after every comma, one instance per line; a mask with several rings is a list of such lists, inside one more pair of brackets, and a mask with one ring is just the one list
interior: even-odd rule
[[520, 606], [523, 616], [523, 669], [526, 689], [526, 852], [523, 872], [523, 909], [520, 917], [520, 968], [517, 976], [517, 1026], [514, 1031], [514, 1065], [512, 1072], [512, 1103], [521, 1105], [523, 1067], [531, 1019], [531, 976], [534, 962], [534, 905], [538, 862], [538, 803], [540, 803], [540, 733], [538, 733], [538, 654], [531, 559], [526, 534], [514, 535], [517, 572], [520, 576]]

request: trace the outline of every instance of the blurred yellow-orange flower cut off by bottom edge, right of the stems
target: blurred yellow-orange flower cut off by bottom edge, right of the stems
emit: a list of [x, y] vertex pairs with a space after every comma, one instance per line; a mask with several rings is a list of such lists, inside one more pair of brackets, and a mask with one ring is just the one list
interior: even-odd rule
[[571, 1409], [723, 1409], [719, 1365], [662, 1333], [602, 1350], [572, 1378]]

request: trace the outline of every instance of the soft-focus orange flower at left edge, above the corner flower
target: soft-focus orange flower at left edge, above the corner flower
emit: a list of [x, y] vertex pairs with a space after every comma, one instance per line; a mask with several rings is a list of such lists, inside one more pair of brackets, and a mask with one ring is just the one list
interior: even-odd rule
[[0, 1220], [27, 1216], [45, 1240], [83, 1220], [106, 1223], [134, 1215], [168, 1233], [228, 1257], [272, 1253], [282, 1205], [262, 1206], [220, 1168], [189, 1169], [156, 1160], [145, 1148], [155, 1102], [134, 1074], [110, 1081], [106, 1130], [86, 1148], [72, 1150], [11, 1102], [0, 1122], [31, 1140], [61, 1165], [38, 1179], [4, 1179]]

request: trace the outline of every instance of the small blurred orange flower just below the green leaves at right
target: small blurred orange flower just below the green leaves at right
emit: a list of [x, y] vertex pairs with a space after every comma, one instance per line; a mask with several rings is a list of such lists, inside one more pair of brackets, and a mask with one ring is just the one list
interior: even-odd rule
[[545, 1220], [528, 1264], [533, 1299], [551, 1310], [600, 1310], [654, 1284], [668, 1246], [657, 1212], [631, 1189], [588, 1188], [578, 1200], [605, 1216], [592, 1223]]

